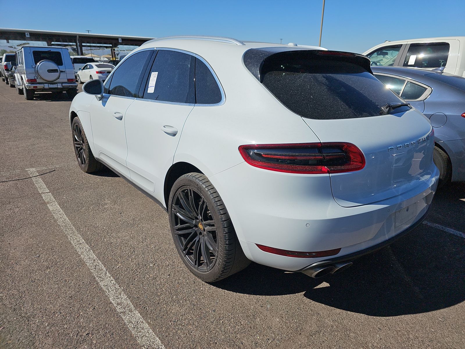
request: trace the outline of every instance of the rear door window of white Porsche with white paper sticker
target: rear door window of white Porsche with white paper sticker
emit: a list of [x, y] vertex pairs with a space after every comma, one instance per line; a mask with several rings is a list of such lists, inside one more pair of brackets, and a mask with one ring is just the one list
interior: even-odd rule
[[195, 103], [194, 64], [195, 57], [190, 54], [159, 50], [150, 69], [143, 98]]

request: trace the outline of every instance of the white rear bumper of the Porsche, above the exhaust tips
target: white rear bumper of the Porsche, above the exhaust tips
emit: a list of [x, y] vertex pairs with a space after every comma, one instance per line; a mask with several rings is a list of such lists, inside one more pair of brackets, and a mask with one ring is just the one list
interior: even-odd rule
[[[282, 174], [242, 163], [210, 177], [250, 260], [299, 271], [321, 261], [362, 253], [389, 241], [425, 216], [438, 184], [438, 169], [416, 188], [357, 207], [341, 207], [329, 176]], [[403, 216], [404, 208], [410, 208]], [[408, 219], [404, 219], [407, 217]], [[298, 258], [262, 251], [257, 244], [289, 251], [340, 248], [337, 255]], [[381, 245], [380, 245], [381, 246]]]

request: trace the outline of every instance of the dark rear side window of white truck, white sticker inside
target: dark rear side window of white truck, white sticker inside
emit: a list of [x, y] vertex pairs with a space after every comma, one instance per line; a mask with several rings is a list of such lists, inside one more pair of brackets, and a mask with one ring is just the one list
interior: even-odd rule
[[448, 57], [449, 44], [447, 42], [411, 44], [405, 56], [404, 67], [445, 67]]

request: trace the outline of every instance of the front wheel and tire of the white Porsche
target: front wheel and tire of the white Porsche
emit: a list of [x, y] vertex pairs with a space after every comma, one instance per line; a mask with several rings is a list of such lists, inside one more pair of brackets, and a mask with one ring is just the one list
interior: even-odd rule
[[79, 117], [73, 119], [71, 124], [71, 136], [73, 139], [74, 155], [81, 170], [86, 173], [97, 172], [102, 167], [102, 164], [97, 161], [89, 147], [84, 128], [82, 127]]

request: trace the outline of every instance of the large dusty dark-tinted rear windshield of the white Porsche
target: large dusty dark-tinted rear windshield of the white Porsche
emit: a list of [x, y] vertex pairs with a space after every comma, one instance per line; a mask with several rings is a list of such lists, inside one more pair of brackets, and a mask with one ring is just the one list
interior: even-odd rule
[[363, 67], [308, 51], [273, 54], [264, 60], [260, 77], [281, 103], [309, 119], [374, 116], [388, 103], [403, 102]]

